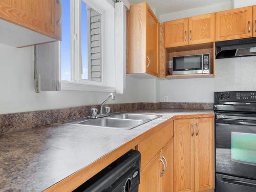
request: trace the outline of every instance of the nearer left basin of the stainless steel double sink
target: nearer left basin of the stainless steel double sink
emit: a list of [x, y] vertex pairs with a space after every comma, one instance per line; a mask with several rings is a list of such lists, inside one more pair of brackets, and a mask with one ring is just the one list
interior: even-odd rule
[[130, 119], [114, 119], [114, 118], [98, 118], [89, 119], [86, 121], [78, 122], [78, 124], [89, 125], [89, 126], [100, 126], [100, 127], [110, 127], [115, 129], [131, 129], [132, 127], [138, 126], [143, 123], [140, 120], [130, 120]]

